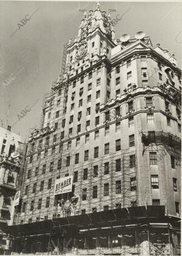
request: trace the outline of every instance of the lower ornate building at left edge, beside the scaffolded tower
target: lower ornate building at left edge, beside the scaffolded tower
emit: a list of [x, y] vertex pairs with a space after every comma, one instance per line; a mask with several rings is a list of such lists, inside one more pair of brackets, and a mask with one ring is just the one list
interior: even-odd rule
[[13, 199], [17, 190], [21, 189], [22, 161], [24, 148], [19, 134], [11, 131], [11, 127], [0, 127], [0, 229], [1, 229], [1, 254], [8, 249], [7, 235], [3, 231], [7, 225], [13, 224], [14, 206]]

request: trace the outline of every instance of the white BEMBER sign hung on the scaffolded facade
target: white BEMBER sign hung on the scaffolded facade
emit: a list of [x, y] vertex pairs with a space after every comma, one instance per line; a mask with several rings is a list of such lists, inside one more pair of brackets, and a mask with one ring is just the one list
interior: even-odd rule
[[73, 176], [56, 179], [55, 195], [72, 192]]

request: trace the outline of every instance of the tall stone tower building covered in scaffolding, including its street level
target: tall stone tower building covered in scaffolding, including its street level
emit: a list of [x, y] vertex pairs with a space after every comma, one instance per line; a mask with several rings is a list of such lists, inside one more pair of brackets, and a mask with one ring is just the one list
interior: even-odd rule
[[[29, 139], [11, 250], [180, 255], [181, 71], [84, 13]], [[70, 189], [71, 188], [71, 189]]]

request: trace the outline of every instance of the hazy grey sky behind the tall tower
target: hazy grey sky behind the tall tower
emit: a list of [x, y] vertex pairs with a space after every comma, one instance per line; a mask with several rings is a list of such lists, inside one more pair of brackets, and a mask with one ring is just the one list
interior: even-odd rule
[[[15, 123], [12, 130], [20, 132], [22, 141], [31, 128], [39, 127], [43, 94], [50, 90], [61, 69], [62, 46], [78, 33], [83, 18], [79, 8], [90, 10], [93, 4], [0, 2], [0, 118], [5, 122], [8, 116], [8, 125]], [[160, 42], [161, 47], [175, 52], [181, 67], [181, 3], [117, 2], [112, 19], [129, 8], [114, 27], [116, 38], [124, 33], [133, 38], [136, 32], [143, 30], [150, 36], [153, 46]], [[115, 9], [115, 2], [101, 2], [101, 9]], [[32, 15], [30, 21], [18, 28], [25, 15], [27, 19]], [[13, 80], [7, 81], [7, 78]], [[24, 112], [23, 117], [21, 111], [26, 107], [29, 110], [30, 106], [32, 109], [26, 115]]]

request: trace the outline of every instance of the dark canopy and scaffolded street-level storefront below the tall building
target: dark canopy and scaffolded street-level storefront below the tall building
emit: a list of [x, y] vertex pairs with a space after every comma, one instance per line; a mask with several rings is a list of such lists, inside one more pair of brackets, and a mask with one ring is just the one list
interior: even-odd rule
[[141, 206], [8, 226], [12, 254], [180, 255], [180, 218]]

